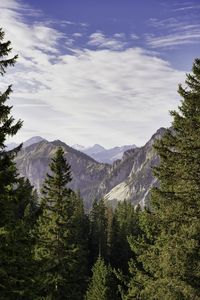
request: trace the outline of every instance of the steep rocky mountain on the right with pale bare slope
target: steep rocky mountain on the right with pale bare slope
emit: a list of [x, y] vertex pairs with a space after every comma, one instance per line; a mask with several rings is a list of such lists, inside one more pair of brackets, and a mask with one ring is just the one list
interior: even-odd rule
[[160, 139], [165, 133], [164, 128], [160, 128], [144, 147], [137, 148], [132, 158], [132, 168], [125, 180], [114, 186], [106, 195], [107, 201], [116, 202], [124, 199], [132, 203], [140, 204], [142, 207], [148, 202], [152, 186], [158, 184], [158, 180], [153, 176], [153, 167], [158, 165], [159, 157], [155, 153], [153, 144], [156, 139]]

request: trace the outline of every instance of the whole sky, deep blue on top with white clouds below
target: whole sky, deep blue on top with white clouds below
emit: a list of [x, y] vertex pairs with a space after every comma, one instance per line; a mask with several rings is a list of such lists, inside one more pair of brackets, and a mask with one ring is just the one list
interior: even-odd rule
[[1, 0], [18, 54], [1, 78], [23, 128], [73, 145], [144, 145], [171, 126], [200, 55], [199, 0]]

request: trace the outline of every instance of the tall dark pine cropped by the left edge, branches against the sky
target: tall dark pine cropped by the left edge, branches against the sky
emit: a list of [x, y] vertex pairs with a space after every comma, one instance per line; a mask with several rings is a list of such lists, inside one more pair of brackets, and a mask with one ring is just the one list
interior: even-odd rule
[[[8, 66], [13, 66], [16, 62], [17, 56], [8, 58], [12, 48], [10, 41], [4, 42], [4, 32], [0, 28], [0, 74], [3, 76], [6, 73]], [[14, 153], [7, 153], [5, 151], [6, 139], [15, 135], [22, 126], [19, 120], [14, 123], [14, 118], [10, 116], [12, 106], [6, 105], [9, 96], [12, 92], [11, 86], [6, 91], [0, 93], [0, 224], [4, 226], [10, 218], [12, 210], [8, 210], [8, 202], [10, 196], [13, 196], [14, 191], [12, 186], [17, 184], [17, 171], [15, 163], [13, 162]], [[14, 205], [10, 201], [10, 205]]]

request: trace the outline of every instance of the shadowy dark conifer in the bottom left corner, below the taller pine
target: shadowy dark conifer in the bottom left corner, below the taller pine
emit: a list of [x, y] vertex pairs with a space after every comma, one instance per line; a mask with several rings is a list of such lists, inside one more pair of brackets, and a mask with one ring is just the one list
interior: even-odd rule
[[32, 187], [22, 178], [15, 193], [15, 197], [9, 198], [15, 204], [13, 210], [9, 207], [10, 217], [0, 229], [0, 295], [2, 299], [33, 299], [36, 270], [32, 258], [35, 242], [32, 225], [36, 220], [36, 199]]

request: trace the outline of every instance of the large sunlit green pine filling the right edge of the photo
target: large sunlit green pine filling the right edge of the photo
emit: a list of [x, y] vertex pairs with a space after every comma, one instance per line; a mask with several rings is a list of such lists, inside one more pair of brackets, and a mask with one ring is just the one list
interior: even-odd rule
[[155, 145], [160, 187], [152, 191], [149, 241], [138, 256], [143, 271], [136, 270], [130, 285], [137, 286], [135, 299], [200, 299], [200, 59], [192, 71], [186, 88], [179, 86], [183, 100], [171, 112], [173, 130]]

